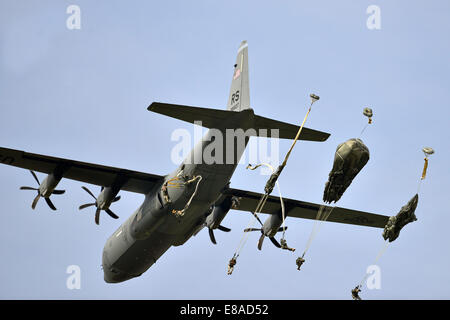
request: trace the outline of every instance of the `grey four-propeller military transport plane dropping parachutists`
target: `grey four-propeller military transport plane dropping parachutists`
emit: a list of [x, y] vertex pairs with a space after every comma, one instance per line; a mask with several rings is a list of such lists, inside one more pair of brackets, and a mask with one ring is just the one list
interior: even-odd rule
[[[229, 187], [230, 179], [247, 146], [249, 137], [245, 137], [241, 148], [224, 147], [223, 157], [233, 161], [226, 163], [197, 163], [205, 148], [214, 140], [219, 130], [278, 129], [279, 138], [294, 139], [299, 126], [255, 115], [250, 107], [248, 78], [248, 45], [243, 41], [239, 47], [234, 65], [233, 79], [227, 110], [190, 107], [154, 102], [149, 111], [194, 123], [202, 121], [210, 128], [203, 139], [197, 143], [183, 163], [166, 176], [142, 173], [126, 169], [107, 167], [74, 160], [55, 158], [18, 150], [0, 148], [0, 163], [31, 170], [39, 188], [22, 187], [24, 190], [38, 192], [32, 207], [43, 197], [55, 210], [50, 201], [51, 194], [62, 194], [55, 190], [62, 178], [73, 179], [102, 187], [98, 197], [83, 187], [94, 199], [96, 207], [95, 222], [99, 223], [100, 211], [104, 210], [113, 218], [117, 216], [109, 209], [112, 202], [119, 199], [120, 190], [145, 195], [141, 206], [110, 236], [102, 257], [104, 280], [119, 283], [139, 277], [148, 270], [171, 246], [183, 245], [201, 229], [207, 227], [213, 243], [214, 229], [229, 231], [220, 223], [230, 209], [249, 211], [255, 209], [261, 194]], [[303, 128], [300, 139], [325, 141], [328, 133]], [[226, 142], [226, 141], [225, 141]], [[228, 146], [228, 143], [223, 143]], [[40, 184], [33, 171], [47, 174]], [[283, 199], [287, 217], [315, 219], [319, 204], [292, 199]], [[269, 214], [261, 232], [274, 240], [274, 235], [282, 224], [281, 203], [279, 198], [270, 196], [262, 213]], [[328, 221], [384, 228], [388, 216], [371, 214], [335, 207]], [[276, 241], [274, 242], [277, 245]]]

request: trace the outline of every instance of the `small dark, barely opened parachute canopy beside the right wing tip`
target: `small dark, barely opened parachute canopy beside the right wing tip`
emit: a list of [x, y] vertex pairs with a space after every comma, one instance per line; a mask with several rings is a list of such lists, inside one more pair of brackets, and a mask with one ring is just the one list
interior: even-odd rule
[[416, 194], [409, 202], [400, 209], [396, 216], [389, 218], [388, 223], [384, 227], [383, 238], [389, 242], [394, 241], [400, 235], [400, 230], [410, 222], [417, 220], [414, 212], [419, 202], [419, 195]]

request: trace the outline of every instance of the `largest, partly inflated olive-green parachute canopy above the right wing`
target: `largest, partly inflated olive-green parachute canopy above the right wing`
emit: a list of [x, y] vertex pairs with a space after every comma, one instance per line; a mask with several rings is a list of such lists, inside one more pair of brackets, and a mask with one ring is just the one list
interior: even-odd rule
[[333, 169], [325, 184], [323, 201], [338, 201], [359, 171], [369, 161], [369, 149], [360, 139], [350, 139], [338, 145]]

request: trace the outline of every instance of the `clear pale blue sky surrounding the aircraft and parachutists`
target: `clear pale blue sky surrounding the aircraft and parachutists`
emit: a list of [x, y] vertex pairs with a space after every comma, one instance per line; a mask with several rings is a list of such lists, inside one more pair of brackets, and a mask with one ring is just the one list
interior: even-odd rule
[[[66, 28], [66, 8], [81, 9], [81, 29]], [[381, 29], [369, 30], [369, 5]], [[236, 51], [249, 43], [255, 113], [300, 123], [309, 94], [320, 95], [306, 126], [331, 133], [297, 144], [280, 184], [283, 196], [321, 203], [336, 146], [363, 136], [371, 158], [341, 207], [394, 215], [416, 192], [422, 147], [431, 146], [416, 211], [378, 265], [381, 290], [366, 299], [448, 299], [450, 212], [450, 32], [448, 1], [12, 1], [0, 3], [0, 145], [132, 170], [166, 174], [174, 129], [191, 125], [149, 113], [153, 101], [225, 109]], [[284, 154], [289, 141], [281, 141]], [[281, 158], [281, 157], [280, 157]], [[43, 175], [39, 175], [41, 180]], [[232, 186], [261, 192], [266, 177], [239, 166]], [[250, 214], [231, 211], [216, 232], [171, 248], [140, 278], [103, 281], [106, 239], [141, 204], [122, 192], [120, 220], [78, 206], [82, 184], [63, 180], [58, 211], [35, 211], [30, 173], [0, 166], [0, 298], [349, 299], [383, 246], [380, 229], [325, 223], [301, 272], [313, 221], [288, 219], [295, 254], [252, 234], [231, 277], [226, 265]], [[92, 190], [96, 190], [92, 186]], [[81, 289], [66, 288], [66, 268], [81, 268]]]

